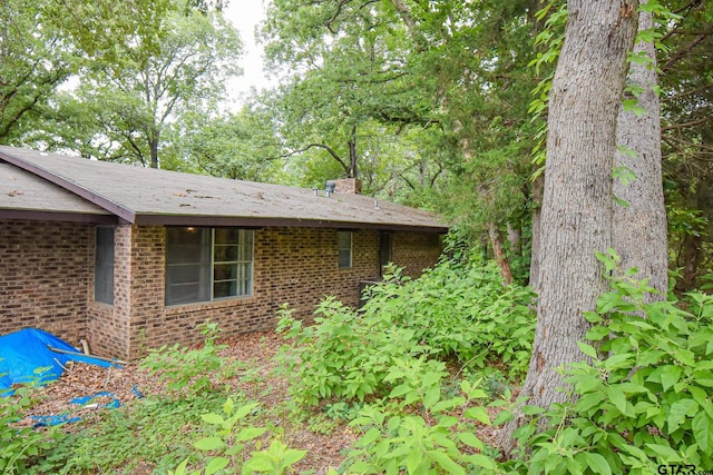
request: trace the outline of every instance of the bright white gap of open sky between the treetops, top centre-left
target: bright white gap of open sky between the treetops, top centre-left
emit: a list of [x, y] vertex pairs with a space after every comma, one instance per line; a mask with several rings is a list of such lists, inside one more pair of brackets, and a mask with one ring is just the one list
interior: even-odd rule
[[233, 22], [241, 32], [244, 44], [244, 56], [241, 61], [243, 76], [228, 82], [229, 99], [241, 102], [241, 98], [254, 86], [257, 89], [270, 82], [263, 72], [263, 50], [255, 42], [255, 27], [265, 17], [264, 0], [232, 0], [225, 17]]

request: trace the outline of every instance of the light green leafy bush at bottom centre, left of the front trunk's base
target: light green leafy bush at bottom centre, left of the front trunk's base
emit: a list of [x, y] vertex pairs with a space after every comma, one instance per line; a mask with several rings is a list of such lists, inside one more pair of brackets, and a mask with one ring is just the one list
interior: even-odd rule
[[[479, 382], [463, 380], [461, 395], [441, 398], [438, 372], [397, 374], [409, 383], [365, 406], [351, 423], [363, 435], [346, 456], [346, 473], [501, 473], [497, 453], [476, 435], [476, 422], [491, 424], [478, 405], [488, 397]], [[403, 410], [414, 402], [419, 413]]]

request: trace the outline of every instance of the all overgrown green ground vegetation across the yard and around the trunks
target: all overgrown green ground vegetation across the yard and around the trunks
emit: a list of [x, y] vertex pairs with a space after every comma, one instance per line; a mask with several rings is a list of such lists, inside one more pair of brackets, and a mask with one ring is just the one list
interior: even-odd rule
[[[609, 274], [621, 274], [616, 256], [600, 259]], [[167, 387], [186, 390], [104, 412], [75, 434], [13, 426], [32, 404], [30, 388], [18, 388], [1, 400], [1, 467], [284, 474], [307, 456], [291, 446], [286, 426], [330, 434], [349, 424], [360, 436], [331, 473], [712, 469], [713, 297], [646, 303], [653, 289], [632, 275], [611, 278], [597, 311], [586, 316], [593, 327], [580, 348], [588, 360], [566, 370], [575, 403], [547, 412], [516, 410], [521, 402], [514, 396], [533, 335], [529, 291], [504, 287], [495, 265], [457, 255], [418, 280], [392, 269], [360, 310], [325, 299], [312, 326], [283, 309], [287, 345], [279, 360], [292, 395], [283, 404], [268, 407], [214, 384], [236, 369], [225, 373], [212, 324], [203, 327], [202, 348], [163, 348], [145, 360]], [[196, 385], [198, 376], [206, 379]], [[518, 448], [505, 458], [491, 434], [516, 414], [525, 424], [516, 432]]]

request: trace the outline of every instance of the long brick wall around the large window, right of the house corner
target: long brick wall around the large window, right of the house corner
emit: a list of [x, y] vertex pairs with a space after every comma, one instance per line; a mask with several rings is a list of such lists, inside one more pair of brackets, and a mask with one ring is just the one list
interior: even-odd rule
[[[395, 239], [394, 263], [420, 269], [438, 258], [431, 249], [397, 253], [400, 246], [432, 245], [403, 234]], [[400, 234], [397, 234], [400, 236]], [[196, 327], [209, 318], [218, 323], [224, 336], [266, 330], [275, 325], [275, 313], [283, 303], [295, 316], [310, 318], [326, 295], [348, 305], [359, 303], [359, 283], [379, 276], [379, 232], [353, 234], [352, 268], [338, 265], [338, 231], [319, 228], [266, 228], [255, 230], [253, 295], [213, 303], [164, 306], [165, 229], [135, 227], [131, 259], [130, 347], [124, 357], [135, 358], [149, 347], [203, 339]], [[401, 260], [401, 257], [403, 260]], [[423, 259], [418, 264], [418, 259]]]

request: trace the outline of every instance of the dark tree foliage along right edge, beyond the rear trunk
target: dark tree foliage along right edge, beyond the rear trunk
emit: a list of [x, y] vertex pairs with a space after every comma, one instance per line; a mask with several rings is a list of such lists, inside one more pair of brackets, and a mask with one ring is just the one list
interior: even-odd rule
[[662, 152], [678, 290], [713, 269], [713, 2], [671, 0], [661, 51]]

